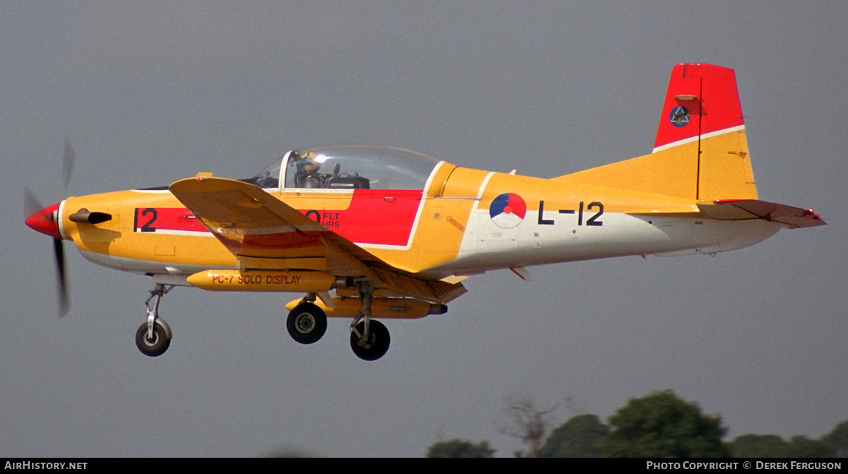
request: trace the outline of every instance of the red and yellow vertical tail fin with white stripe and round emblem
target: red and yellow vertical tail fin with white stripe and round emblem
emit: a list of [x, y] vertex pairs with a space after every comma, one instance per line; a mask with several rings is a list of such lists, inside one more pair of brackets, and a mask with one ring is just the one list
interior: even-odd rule
[[654, 153], [557, 179], [674, 198], [756, 199], [734, 70], [677, 64]]

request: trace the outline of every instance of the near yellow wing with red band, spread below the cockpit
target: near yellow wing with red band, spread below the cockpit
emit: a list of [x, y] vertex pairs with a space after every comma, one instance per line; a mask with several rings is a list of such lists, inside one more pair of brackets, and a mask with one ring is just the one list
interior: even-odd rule
[[201, 176], [176, 181], [169, 189], [245, 270], [365, 276], [376, 287], [432, 303], [445, 304], [466, 293], [460, 283], [430, 280], [388, 265], [253, 184]]

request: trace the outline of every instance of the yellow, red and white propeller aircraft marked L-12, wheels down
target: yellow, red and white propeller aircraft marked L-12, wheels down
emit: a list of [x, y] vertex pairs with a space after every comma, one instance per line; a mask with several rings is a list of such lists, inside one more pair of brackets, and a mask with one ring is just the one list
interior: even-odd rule
[[377, 360], [389, 334], [376, 318], [444, 314], [466, 293], [460, 281], [488, 270], [525, 278], [531, 265], [714, 254], [824, 221], [757, 198], [734, 70], [678, 64], [653, 152], [571, 175], [471, 170], [399, 148], [298, 148], [250, 179], [200, 173], [67, 198], [26, 224], [55, 239], [61, 313], [62, 240], [153, 278], [143, 354], [170, 345], [162, 296], [199, 287], [305, 293], [286, 306], [295, 341], [315, 343], [327, 317], [352, 318], [354, 353]]

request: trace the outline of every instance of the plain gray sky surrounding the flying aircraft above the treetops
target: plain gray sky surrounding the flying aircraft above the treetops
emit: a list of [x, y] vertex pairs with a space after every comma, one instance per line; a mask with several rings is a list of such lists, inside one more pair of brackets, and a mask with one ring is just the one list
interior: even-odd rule
[[[758, 6], [759, 5], [759, 6]], [[845, 2], [3, 2], [0, 4], [0, 455], [417, 456], [488, 439], [503, 400], [572, 397], [606, 419], [670, 388], [747, 432], [817, 438], [848, 419]], [[650, 153], [672, 65], [736, 70], [760, 197], [828, 226], [706, 256], [495, 271], [447, 315], [388, 321], [357, 359], [347, 320], [288, 337], [294, 294], [177, 288], [175, 332], [134, 335], [149, 278], [22, 219], [24, 186], [68, 194], [252, 176], [320, 143], [410, 148], [471, 168], [559, 176]]]

